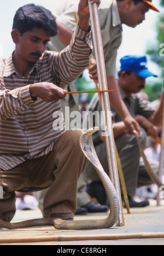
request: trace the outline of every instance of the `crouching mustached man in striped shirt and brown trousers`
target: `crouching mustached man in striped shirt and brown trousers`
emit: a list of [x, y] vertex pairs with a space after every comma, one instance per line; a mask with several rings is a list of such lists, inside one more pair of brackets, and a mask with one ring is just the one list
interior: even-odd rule
[[[100, 3], [100, 0], [93, 0]], [[64, 88], [89, 65], [88, 0], [79, 1], [79, 24], [61, 53], [45, 51], [57, 24], [44, 7], [27, 4], [16, 11], [11, 36], [15, 50], [0, 61], [0, 219], [15, 214], [15, 191], [48, 188], [44, 216], [73, 219], [77, 182], [86, 166], [79, 146], [82, 131], [53, 129]], [[58, 124], [63, 124], [60, 115]]]

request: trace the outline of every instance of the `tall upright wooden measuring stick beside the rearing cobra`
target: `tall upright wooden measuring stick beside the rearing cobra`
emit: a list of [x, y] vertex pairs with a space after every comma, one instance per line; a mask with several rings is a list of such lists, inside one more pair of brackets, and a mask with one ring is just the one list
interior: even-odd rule
[[[106, 67], [104, 62], [101, 28], [99, 25], [98, 8], [96, 3], [91, 5], [90, 2], [89, 2], [89, 7], [90, 7], [91, 25], [92, 25], [92, 33], [93, 33], [93, 42], [95, 45], [99, 90], [107, 90], [108, 88], [107, 75], [106, 75]], [[107, 131], [108, 131], [108, 136], [106, 136], [106, 147], [107, 147], [107, 156], [108, 156], [108, 165], [109, 165], [109, 176], [115, 186], [116, 192], [119, 197], [119, 204], [120, 204], [120, 216], [119, 216], [118, 226], [124, 226], [125, 225], [124, 214], [122, 209], [118, 166], [116, 164], [115, 143], [114, 143], [114, 136], [113, 136], [112, 117], [110, 112], [110, 102], [109, 102], [108, 92], [101, 94], [101, 105], [102, 105], [102, 111], [104, 113], [103, 115], [104, 127], [107, 127]]]

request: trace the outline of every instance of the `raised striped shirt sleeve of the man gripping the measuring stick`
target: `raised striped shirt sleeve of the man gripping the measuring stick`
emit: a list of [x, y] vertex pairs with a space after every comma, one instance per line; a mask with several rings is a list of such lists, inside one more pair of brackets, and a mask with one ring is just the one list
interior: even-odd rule
[[56, 74], [56, 85], [65, 88], [89, 66], [92, 54], [91, 27], [87, 33], [77, 25], [71, 44], [52, 57], [52, 70]]

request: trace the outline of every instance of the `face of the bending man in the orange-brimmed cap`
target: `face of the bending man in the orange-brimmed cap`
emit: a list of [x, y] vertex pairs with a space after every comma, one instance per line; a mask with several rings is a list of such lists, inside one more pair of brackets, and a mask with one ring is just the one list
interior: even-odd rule
[[141, 24], [145, 20], [145, 14], [148, 13], [149, 9], [150, 8], [147, 3], [140, 2], [137, 5], [134, 5], [134, 2], [132, 1], [128, 9], [125, 24], [133, 28]]

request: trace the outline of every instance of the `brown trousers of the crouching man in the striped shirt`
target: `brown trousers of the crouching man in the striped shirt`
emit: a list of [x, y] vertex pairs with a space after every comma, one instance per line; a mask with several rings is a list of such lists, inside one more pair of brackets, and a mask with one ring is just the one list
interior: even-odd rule
[[48, 155], [27, 160], [8, 171], [0, 170], [4, 196], [0, 200], [0, 219], [10, 222], [15, 215], [15, 191], [49, 188], [43, 203], [45, 217], [52, 213], [75, 213], [77, 183], [87, 160], [81, 151], [82, 131], [66, 131]]

